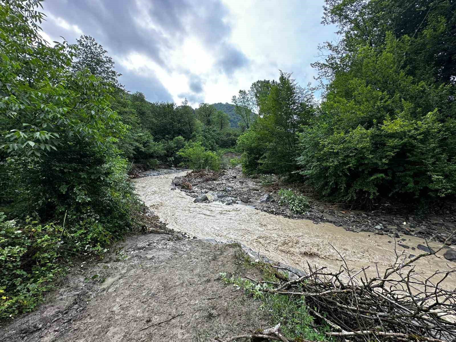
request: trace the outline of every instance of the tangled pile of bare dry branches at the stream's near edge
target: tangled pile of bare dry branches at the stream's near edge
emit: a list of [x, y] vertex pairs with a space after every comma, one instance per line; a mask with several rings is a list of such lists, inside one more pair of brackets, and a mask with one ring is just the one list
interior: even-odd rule
[[[264, 291], [304, 296], [309, 313], [331, 327], [327, 337], [339, 341], [456, 342], [456, 269], [448, 265], [449, 270], [436, 270], [425, 277], [414, 267], [416, 260], [433, 257], [440, 250], [430, 249], [430, 253], [413, 259], [396, 252], [389, 268], [380, 273], [375, 265], [376, 276], [370, 277], [366, 273], [369, 266], [350, 269], [340, 254], [343, 264], [338, 272], [308, 264], [305, 274], [298, 275], [286, 267], [273, 266], [294, 273], [295, 279], [279, 280]], [[269, 330], [269, 336], [260, 333], [242, 337], [292, 341], [280, 334], [280, 326]]]

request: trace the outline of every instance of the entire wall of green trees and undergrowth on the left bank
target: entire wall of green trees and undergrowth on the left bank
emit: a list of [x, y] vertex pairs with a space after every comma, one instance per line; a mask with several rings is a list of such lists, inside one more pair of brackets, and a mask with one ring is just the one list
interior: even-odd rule
[[124, 238], [139, 209], [115, 147], [127, 126], [111, 108], [114, 89], [85, 68], [72, 72], [73, 46], [42, 40], [39, 5], [0, 6], [1, 318], [30, 311], [62, 260]]

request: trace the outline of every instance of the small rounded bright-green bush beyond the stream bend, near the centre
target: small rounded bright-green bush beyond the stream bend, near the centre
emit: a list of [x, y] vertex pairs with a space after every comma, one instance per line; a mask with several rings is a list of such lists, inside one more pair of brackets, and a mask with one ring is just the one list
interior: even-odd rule
[[177, 152], [183, 158], [183, 164], [191, 169], [220, 170], [220, 156], [212, 151], [207, 151], [200, 142], [189, 142]]

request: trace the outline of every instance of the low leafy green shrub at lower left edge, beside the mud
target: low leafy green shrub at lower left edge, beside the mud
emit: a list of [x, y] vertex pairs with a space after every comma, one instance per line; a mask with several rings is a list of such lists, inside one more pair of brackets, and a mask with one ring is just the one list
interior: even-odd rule
[[62, 273], [62, 229], [30, 218], [18, 226], [0, 212], [0, 320], [31, 311]]

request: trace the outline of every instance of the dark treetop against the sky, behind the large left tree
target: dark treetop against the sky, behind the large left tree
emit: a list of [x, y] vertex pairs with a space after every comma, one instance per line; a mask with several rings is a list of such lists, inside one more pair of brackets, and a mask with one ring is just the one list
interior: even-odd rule
[[81, 36], [76, 40], [74, 47], [74, 58], [72, 69], [74, 72], [80, 72], [84, 69], [100, 78], [103, 82], [109, 83], [115, 88], [124, 89], [119, 83], [119, 77], [122, 74], [114, 70], [114, 61], [108, 55], [108, 52], [98, 44], [91, 36]]

